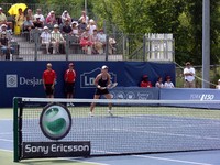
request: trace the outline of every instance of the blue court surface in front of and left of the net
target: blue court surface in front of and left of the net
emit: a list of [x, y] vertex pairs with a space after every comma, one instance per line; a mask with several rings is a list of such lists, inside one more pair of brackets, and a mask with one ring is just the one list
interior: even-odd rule
[[[12, 120], [0, 120], [0, 151], [13, 151], [12, 124]], [[220, 165], [220, 150], [69, 160], [97, 165]]]

